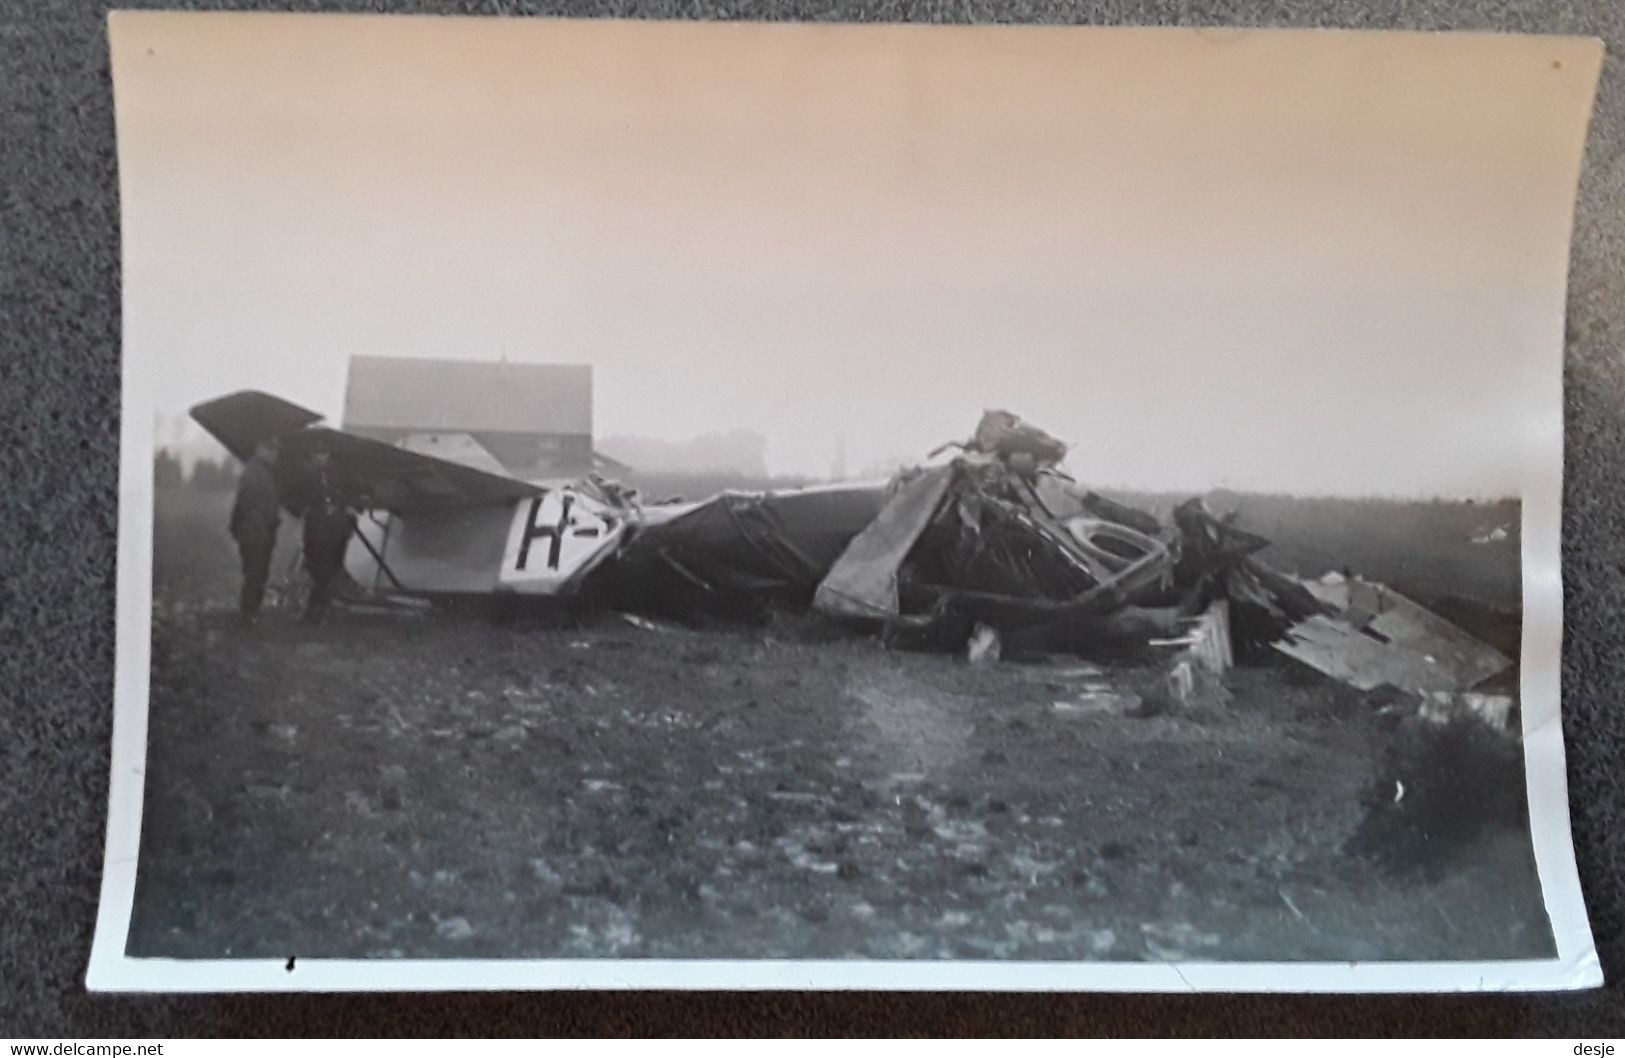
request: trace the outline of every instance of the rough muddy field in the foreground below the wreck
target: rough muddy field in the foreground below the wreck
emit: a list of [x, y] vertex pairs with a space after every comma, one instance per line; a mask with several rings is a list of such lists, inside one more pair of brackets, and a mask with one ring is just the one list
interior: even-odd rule
[[1386, 728], [1287, 665], [1128, 715], [811, 619], [242, 631], [221, 561], [159, 562], [136, 956], [1552, 954], [1526, 830], [1344, 850]]

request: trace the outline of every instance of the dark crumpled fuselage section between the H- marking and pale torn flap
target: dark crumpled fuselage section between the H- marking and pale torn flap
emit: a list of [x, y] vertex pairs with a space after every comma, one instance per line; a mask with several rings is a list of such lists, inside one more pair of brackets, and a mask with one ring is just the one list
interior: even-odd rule
[[604, 572], [629, 608], [749, 613], [806, 606], [884, 499], [879, 484], [725, 492], [670, 522], [645, 525]]

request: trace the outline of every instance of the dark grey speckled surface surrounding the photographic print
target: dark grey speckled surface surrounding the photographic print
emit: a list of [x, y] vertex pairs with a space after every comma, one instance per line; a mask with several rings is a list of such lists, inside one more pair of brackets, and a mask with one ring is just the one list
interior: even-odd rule
[[[132, 3], [130, 7], [162, 7]], [[236, 7], [177, 3], [177, 7]], [[244, 3], [271, 8], [273, 3]], [[1495, 29], [1609, 44], [1570, 276], [1563, 713], [1607, 990], [1558, 996], [91, 996], [112, 728], [119, 198], [106, 8], [0, 0], [0, 1035], [1625, 1034], [1625, 3], [606, 0], [288, 3], [478, 15]], [[1170, 310], [1176, 310], [1170, 306]], [[1566, 1053], [1566, 1051], [1565, 1051]]]

